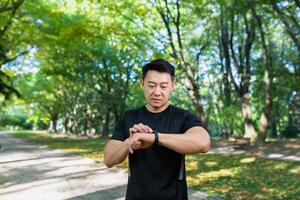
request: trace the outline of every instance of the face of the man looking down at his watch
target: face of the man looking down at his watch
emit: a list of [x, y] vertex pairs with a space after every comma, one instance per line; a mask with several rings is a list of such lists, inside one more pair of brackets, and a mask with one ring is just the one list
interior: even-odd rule
[[141, 87], [147, 100], [147, 108], [153, 112], [160, 112], [169, 105], [174, 82], [168, 73], [149, 70], [145, 79], [141, 81]]

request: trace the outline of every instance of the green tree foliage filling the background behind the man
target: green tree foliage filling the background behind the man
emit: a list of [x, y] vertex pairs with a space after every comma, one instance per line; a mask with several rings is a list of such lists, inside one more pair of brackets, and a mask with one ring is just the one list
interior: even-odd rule
[[[7, 75], [1, 80], [19, 91], [34, 128], [108, 137], [124, 110], [145, 103], [141, 66], [163, 57], [177, 70], [171, 103], [207, 122], [212, 136], [240, 137], [245, 125], [259, 132], [267, 96], [264, 134], [283, 136], [299, 109], [289, 106], [299, 92], [298, 6], [273, 0], [22, 1], [13, 16], [2, 13], [1, 26], [12, 23], [0, 46], [6, 60], [14, 59], [1, 61]], [[266, 56], [272, 61], [268, 91]]]

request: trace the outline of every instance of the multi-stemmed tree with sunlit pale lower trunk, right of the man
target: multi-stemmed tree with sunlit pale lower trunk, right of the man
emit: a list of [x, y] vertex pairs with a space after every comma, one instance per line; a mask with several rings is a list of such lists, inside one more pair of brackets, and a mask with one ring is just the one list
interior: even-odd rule
[[[220, 5], [221, 48], [225, 57], [225, 80], [230, 77], [241, 101], [244, 137], [256, 138], [250, 105], [251, 52], [255, 40], [255, 19], [247, 4]], [[223, 13], [224, 9], [226, 12]], [[228, 90], [229, 86], [225, 86]], [[228, 93], [228, 92], [227, 92]], [[226, 93], [225, 93], [226, 94]], [[228, 96], [228, 94], [226, 94]], [[228, 98], [228, 97], [227, 97]]]

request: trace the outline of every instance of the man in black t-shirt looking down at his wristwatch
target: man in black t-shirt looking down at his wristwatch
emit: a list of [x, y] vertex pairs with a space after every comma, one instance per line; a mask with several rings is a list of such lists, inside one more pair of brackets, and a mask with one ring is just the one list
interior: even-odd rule
[[174, 67], [163, 59], [143, 66], [146, 106], [125, 112], [104, 149], [108, 167], [129, 156], [126, 200], [186, 200], [184, 155], [205, 153], [210, 137], [190, 112], [168, 103]]

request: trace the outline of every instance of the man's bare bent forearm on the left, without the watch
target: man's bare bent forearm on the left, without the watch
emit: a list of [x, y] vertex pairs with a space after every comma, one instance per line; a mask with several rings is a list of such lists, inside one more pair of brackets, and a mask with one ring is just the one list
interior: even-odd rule
[[[114, 141], [115, 142], [115, 141]], [[128, 156], [128, 139], [118, 144], [108, 143], [104, 148], [104, 164], [107, 167], [122, 163]]]

